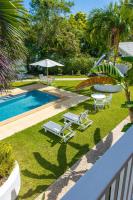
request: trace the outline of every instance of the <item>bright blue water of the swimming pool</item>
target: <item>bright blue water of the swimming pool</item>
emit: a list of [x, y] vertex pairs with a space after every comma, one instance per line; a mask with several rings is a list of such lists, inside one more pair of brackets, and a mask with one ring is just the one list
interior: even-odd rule
[[0, 98], [0, 121], [30, 111], [57, 99], [59, 97], [38, 90], [16, 96], [2, 97]]

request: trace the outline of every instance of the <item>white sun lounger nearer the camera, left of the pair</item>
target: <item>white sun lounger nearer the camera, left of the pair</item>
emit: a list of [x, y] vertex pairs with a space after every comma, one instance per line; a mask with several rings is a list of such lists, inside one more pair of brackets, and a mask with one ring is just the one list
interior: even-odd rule
[[76, 132], [71, 129], [71, 123], [67, 123], [64, 126], [61, 126], [55, 122], [49, 121], [43, 125], [45, 132], [49, 131], [54, 135], [62, 138], [64, 142], [67, 142], [68, 139], [73, 137]]

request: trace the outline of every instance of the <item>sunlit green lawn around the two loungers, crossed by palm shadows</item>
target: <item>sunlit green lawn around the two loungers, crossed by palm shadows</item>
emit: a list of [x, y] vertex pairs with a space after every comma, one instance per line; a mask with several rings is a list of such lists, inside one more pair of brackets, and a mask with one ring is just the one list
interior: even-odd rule
[[[54, 84], [62, 89], [74, 91], [77, 81], [58, 81]], [[88, 95], [90, 92], [83, 90], [81, 93]], [[5, 139], [4, 142], [12, 144], [20, 164], [22, 175], [20, 199], [34, 199], [38, 196], [119, 124], [128, 113], [127, 109], [120, 106], [124, 100], [123, 92], [113, 94], [111, 107], [97, 113], [91, 112], [90, 118], [94, 121], [92, 126], [83, 132], [77, 131], [75, 137], [66, 144], [57, 136], [45, 133], [42, 129], [44, 122]], [[69, 111], [81, 113], [86, 109], [92, 109], [91, 100], [70, 108]], [[62, 124], [62, 115], [63, 113], [60, 113], [49, 120]], [[76, 129], [77, 126], [73, 128]]]

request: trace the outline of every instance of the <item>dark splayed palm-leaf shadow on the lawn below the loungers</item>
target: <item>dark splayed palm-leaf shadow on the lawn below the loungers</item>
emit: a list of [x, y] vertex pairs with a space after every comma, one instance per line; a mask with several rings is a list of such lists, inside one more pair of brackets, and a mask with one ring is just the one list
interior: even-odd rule
[[[72, 158], [72, 160], [70, 162], [67, 162], [67, 158], [66, 158], [67, 145], [70, 145], [73, 148], [76, 148], [78, 150], [78, 153], [76, 153], [76, 155]], [[79, 145], [79, 144], [76, 144], [73, 142], [69, 142], [68, 144], [62, 143], [60, 145], [60, 148], [58, 150], [58, 155], [57, 155], [58, 164], [52, 164], [50, 161], [45, 159], [45, 157], [41, 156], [41, 154], [39, 152], [34, 152], [33, 156], [34, 156], [35, 160], [37, 161], [37, 163], [42, 168], [44, 168], [44, 170], [48, 170], [50, 172], [50, 174], [49, 175], [37, 174], [37, 173], [34, 173], [27, 169], [23, 170], [22, 174], [31, 179], [40, 179], [40, 180], [51, 179], [54, 181], [54, 180], [58, 179], [59, 176], [64, 174], [66, 172], [67, 168], [71, 167], [88, 150], [89, 150], [88, 144], [82, 146], [82, 145]], [[74, 175], [75, 181], [79, 178], [80, 174], [81, 174], [81, 172], [75, 173], [75, 175]], [[23, 196], [21, 196], [21, 198], [26, 199], [26, 198], [32, 197], [32, 195], [34, 195], [35, 193], [41, 193], [47, 187], [48, 186], [46, 186], [46, 185], [37, 186], [35, 190], [32, 190], [32, 189], [28, 190]], [[60, 190], [61, 190], [61, 188], [59, 188], [59, 190], [57, 189], [58, 192], [60, 192]]]

